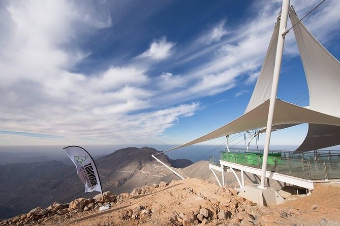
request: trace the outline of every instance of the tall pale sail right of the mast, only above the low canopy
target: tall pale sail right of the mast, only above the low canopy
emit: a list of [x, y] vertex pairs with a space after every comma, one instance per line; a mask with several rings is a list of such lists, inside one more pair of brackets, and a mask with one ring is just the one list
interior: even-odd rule
[[[299, 18], [292, 9], [292, 24]], [[340, 63], [311, 34], [302, 22], [294, 28], [310, 92], [310, 109], [340, 117]]]

